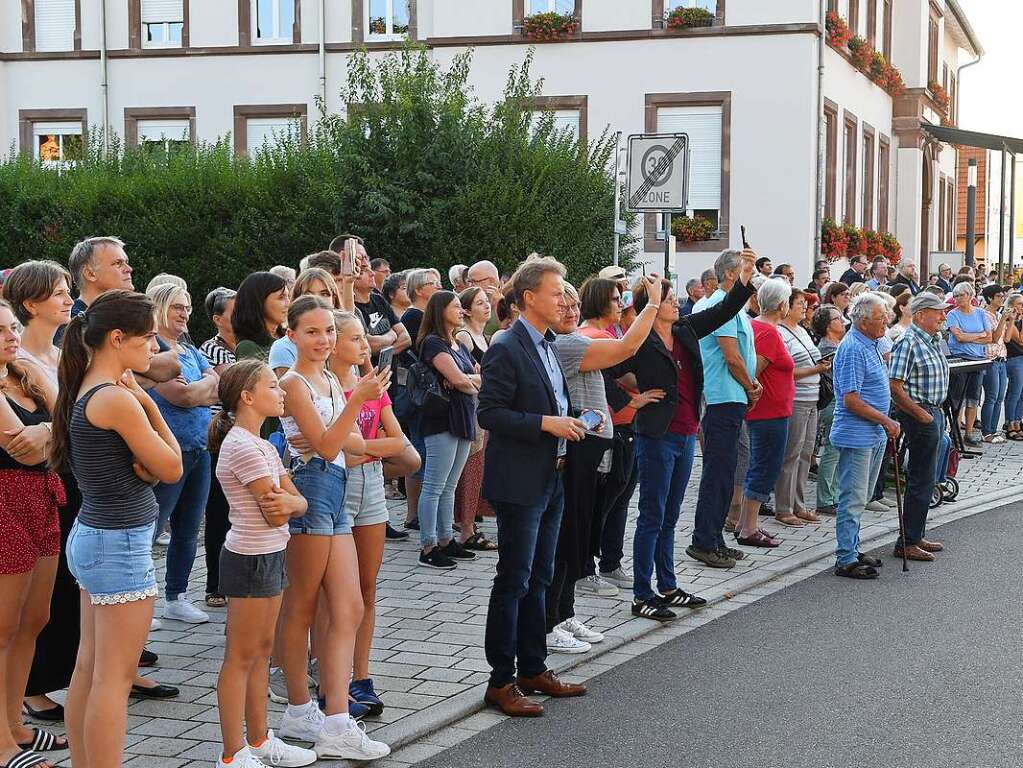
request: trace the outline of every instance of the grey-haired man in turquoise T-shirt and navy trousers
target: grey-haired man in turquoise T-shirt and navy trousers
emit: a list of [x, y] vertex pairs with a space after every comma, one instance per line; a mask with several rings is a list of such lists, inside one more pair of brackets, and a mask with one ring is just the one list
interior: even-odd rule
[[[724, 301], [739, 277], [744, 257], [756, 258], [752, 251], [724, 251], [714, 262], [718, 288], [697, 302], [694, 313]], [[751, 281], [752, 282], [752, 281]], [[746, 411], [763, 394], [756, 379], [757, 354], [753, 348], [753, 325], [740, 312], [728, 322], [700, 340], [703, 361], [704, 411], [703, 465], [713, 467], [700, 478], [696, 527], [693, 543], [685, 553], [711, 568], [732, 568], [746, 553], [725, 546], [722, 530], [731, 505], [732, 480], [739, 458], [739, 435]]]

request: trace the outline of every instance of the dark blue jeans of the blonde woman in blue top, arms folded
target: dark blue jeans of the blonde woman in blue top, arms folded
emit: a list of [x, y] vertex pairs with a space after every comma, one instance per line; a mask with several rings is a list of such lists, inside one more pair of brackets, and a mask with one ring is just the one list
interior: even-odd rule
[[188, 590], [188, 576], [195, 562], [198, 527], [210, 495], [210, 454], [195, 448], [181, 452], [181, 480], [161, 483], [153, 489], [160, 504], [160, 519], [154, 535], [160, 535], [168, 521], [171, 543], [167, 547], [166, 595], [176, 600]]

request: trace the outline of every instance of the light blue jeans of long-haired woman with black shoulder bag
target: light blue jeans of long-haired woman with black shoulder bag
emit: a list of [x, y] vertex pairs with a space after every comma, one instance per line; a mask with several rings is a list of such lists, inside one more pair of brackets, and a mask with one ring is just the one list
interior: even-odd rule
[[472, 442], [456, 438], [449, 432], [428, 435], [427, 473], [419, 492], [419, 543], [432, 547], [450, 541], [454, 522], [454, 489], [469, 458]]

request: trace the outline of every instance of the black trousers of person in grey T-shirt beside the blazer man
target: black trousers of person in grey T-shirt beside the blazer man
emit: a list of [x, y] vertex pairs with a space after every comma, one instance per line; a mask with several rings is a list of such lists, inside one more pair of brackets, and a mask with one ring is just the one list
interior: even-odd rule
[[592, 435], [569, 443], [565, 470], [565, 511], [558, 533], [554, 575], [544, 598], [547, 632], [575, 616], [575, 583], [583, 577], [589, 554], [590, 530], [599, 508], [596, 503], [597, 473], [611, 442]]

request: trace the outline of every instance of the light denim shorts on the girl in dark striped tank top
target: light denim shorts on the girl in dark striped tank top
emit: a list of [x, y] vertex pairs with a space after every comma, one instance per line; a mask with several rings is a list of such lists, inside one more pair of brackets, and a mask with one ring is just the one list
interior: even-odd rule
[[138, 528], [92, 528], [75, 521], [68, 537], [68, 569], [93, 605], [157, 596], [152, 532], [157, 522]]

